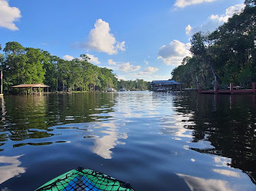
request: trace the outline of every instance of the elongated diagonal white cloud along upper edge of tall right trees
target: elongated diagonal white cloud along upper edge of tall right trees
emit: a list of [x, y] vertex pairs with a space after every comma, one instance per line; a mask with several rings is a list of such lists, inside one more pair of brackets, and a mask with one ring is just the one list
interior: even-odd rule
[[185, 28], [185, 34], [192, 35], [199, 31], [214, 31], [218, 26], [224, 24], [228, 21], [228, 18], [231, 18], [234, 14], [239, 14], [241, 10], [245, 8], [245, 5], [239, 4], [234, 5], [226, 9], [224, 15], [211, 15], [208, 18], [208, 22], [206, 24], [202, 24], [200, 27], [192, 27], [190, 24]]

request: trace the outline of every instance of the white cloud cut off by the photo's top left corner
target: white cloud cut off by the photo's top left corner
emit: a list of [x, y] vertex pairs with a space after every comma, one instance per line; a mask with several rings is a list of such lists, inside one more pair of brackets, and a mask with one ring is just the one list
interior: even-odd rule
[[18, 28], [13, 23], [21, 18], [21, 11], [18, 8], [10, 7], [8, 2], [0, 0], [0, 27], [16, 31]]

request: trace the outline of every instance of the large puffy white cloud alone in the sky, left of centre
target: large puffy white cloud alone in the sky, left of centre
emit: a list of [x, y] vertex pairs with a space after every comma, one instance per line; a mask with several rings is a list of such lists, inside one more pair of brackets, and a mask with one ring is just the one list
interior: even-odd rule
[[97, 50], [108, 54], [118, 53], [119, 50], [125, 50], [125, 41], [118, 42], [113, 34], [110, 34], [110, 24], [102, 19], [98, 19], [94, 28], [85, 43], [81, 47]]

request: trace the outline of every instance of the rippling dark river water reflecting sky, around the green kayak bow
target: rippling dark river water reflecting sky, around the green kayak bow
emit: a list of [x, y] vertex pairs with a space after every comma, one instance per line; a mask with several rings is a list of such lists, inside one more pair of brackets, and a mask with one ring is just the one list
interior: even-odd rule
[[79, 166], [136, 190], [256, 190], [255, 95], [5, 95], [0, 112], [2, 190]]

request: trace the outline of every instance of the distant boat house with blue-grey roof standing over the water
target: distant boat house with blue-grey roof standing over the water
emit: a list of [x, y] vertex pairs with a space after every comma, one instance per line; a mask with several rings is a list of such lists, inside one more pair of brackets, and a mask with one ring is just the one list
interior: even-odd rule
[[177, 83], [175, 80], [153, 80], [152, 90], [154, 92], [169, 92], [169, 91], [178, 91], [182, 89], [182, 84]]

